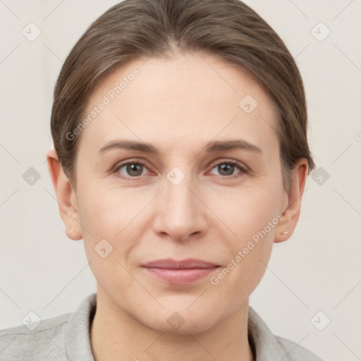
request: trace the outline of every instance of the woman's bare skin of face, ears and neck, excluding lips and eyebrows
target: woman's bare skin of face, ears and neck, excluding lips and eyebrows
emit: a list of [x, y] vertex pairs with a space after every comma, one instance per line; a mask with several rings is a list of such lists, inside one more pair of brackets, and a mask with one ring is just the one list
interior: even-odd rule
[[[247, 340], [248, 298], [264, 275], [273, 243], [290, 238], [298, 222], [307, 160], [299, 160], [287, 195], [270, 98], [250, 74], [214, 56], [133, 61], [98, 85], [88, 110], [135, 67], [135, 80], [82, 130], [76, 189], [54, 149], [47, 155], [66, 234], [84, 239], [97, 279], [94, 360], [254, 360]], [[246, 94], [258, 103], [250, 114], [238, 106]], [[149, 142], [159, 154], [99, 154], [114, 139]], [[240, 139], [262, 153], [204, 152], [209, 141]], [[145, 162], [141, 175], [132, 178], [129, 167], [114, 167], [128, 160]], [[237, 166], [222, 171], [219, 164], [229, 160], [250, 172]], [[174, 166], [185, 175], [178, 185], [166, 178]], [[277, 214], [283, 219], [216, 286], [209, 280], [219, 270], [174, 286], [140, 267], [169, 257], [226, 267]], [[104, 238], [113, 246], [106, 258], [94, 250]], [[184, 319], [178, 329], [167, 322], [173, 312]]]

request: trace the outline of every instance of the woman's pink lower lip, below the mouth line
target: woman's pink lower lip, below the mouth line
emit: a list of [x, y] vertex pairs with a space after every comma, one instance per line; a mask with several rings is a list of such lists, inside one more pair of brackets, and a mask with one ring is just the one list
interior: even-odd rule
[[163, 268], [148, 268], [147, 271], [153, 276], [166, 281], [171, 285], [188, 285], [202, 279], [203, 277], [211, 274], [215, 269], [212, 268], [193, 268], [193, 269], [163, 269]]

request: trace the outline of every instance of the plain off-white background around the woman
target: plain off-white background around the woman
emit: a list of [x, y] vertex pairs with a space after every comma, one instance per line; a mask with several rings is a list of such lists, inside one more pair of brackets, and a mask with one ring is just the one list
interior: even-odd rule
[[[117, 2], [0, 0], [0, 329], [21, 324], [30, 310], [42, 319], [73, 312], [95, 292], [83, 241], [66, 237], [46, 153], [61, 65], [92, 20]], [[296, 57], [310, 147], [329, 174], [307, 178], [295, 233], [274, 245], [250, 305], [274, 334], [325, 360], [361, 360], [361, 1], [247, 3]], [[30, 22], [41, 30], [32, 42]], [[30, 167], [40, 175], [33, 185], [23, 179]], [[331, 323], [319, 331], [314, 324], [326, 317]]]

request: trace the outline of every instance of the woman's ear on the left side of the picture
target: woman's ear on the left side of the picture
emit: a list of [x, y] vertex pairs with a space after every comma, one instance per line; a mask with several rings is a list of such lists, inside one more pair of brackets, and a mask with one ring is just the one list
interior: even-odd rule
[[54, 148], [47, 153], [47, 164], [56, 192], [60, 216], [66, 228], [66, 235], [72, 240], [80, 240], [82, 232], [75, 190], [63, 172]]

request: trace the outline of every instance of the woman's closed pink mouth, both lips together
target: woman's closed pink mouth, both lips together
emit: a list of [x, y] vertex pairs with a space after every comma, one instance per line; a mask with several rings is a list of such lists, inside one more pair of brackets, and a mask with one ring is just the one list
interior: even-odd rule
[[159, 259], [143, 264], [142, 267], [161, 281], [181, 286], [204, 278], [220, 266], [202, 259], [184, 259], [183, 261]]

